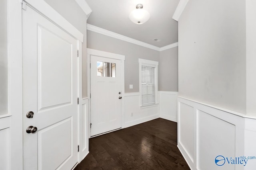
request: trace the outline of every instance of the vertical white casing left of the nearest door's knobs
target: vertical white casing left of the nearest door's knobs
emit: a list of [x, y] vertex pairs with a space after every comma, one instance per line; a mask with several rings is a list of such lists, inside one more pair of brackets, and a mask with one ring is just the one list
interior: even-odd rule
[[23, 167], [22, 127], [22, 8], [8, 0], [8, 113], [10, 116], [10, 170]]

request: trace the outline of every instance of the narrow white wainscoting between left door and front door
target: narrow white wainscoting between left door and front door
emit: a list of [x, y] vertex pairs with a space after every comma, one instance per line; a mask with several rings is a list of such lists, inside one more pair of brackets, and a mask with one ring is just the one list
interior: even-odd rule
[[82, 109], [79, 116], [79, 162], [89, 153], [89, 104], [88, 98], [82, 99]]

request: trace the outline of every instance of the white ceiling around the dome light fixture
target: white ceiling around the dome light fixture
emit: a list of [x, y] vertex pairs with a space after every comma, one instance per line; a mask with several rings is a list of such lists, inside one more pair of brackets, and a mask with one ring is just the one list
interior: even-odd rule
[[[86, 0], [92, 13], [87, 23], [156, 47], [178, 41], [178, 22], [172, 16], [180, 0]], [[141, 25], [129, 19], [137, 4], [150, 13]], [[160, 39], [156, 42], [153, 39]]]

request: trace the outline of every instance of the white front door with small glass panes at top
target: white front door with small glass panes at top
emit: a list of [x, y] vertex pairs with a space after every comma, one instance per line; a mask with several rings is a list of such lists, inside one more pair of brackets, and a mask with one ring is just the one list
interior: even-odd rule
[[91, 136], [121, 128], [121, 61], [91, 55]]

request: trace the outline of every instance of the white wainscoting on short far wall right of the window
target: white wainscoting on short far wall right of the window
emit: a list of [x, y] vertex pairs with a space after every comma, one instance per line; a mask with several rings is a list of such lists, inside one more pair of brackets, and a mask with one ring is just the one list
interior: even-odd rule
[[177, 122], [178, 92], [159, 91], [159, 116]]

